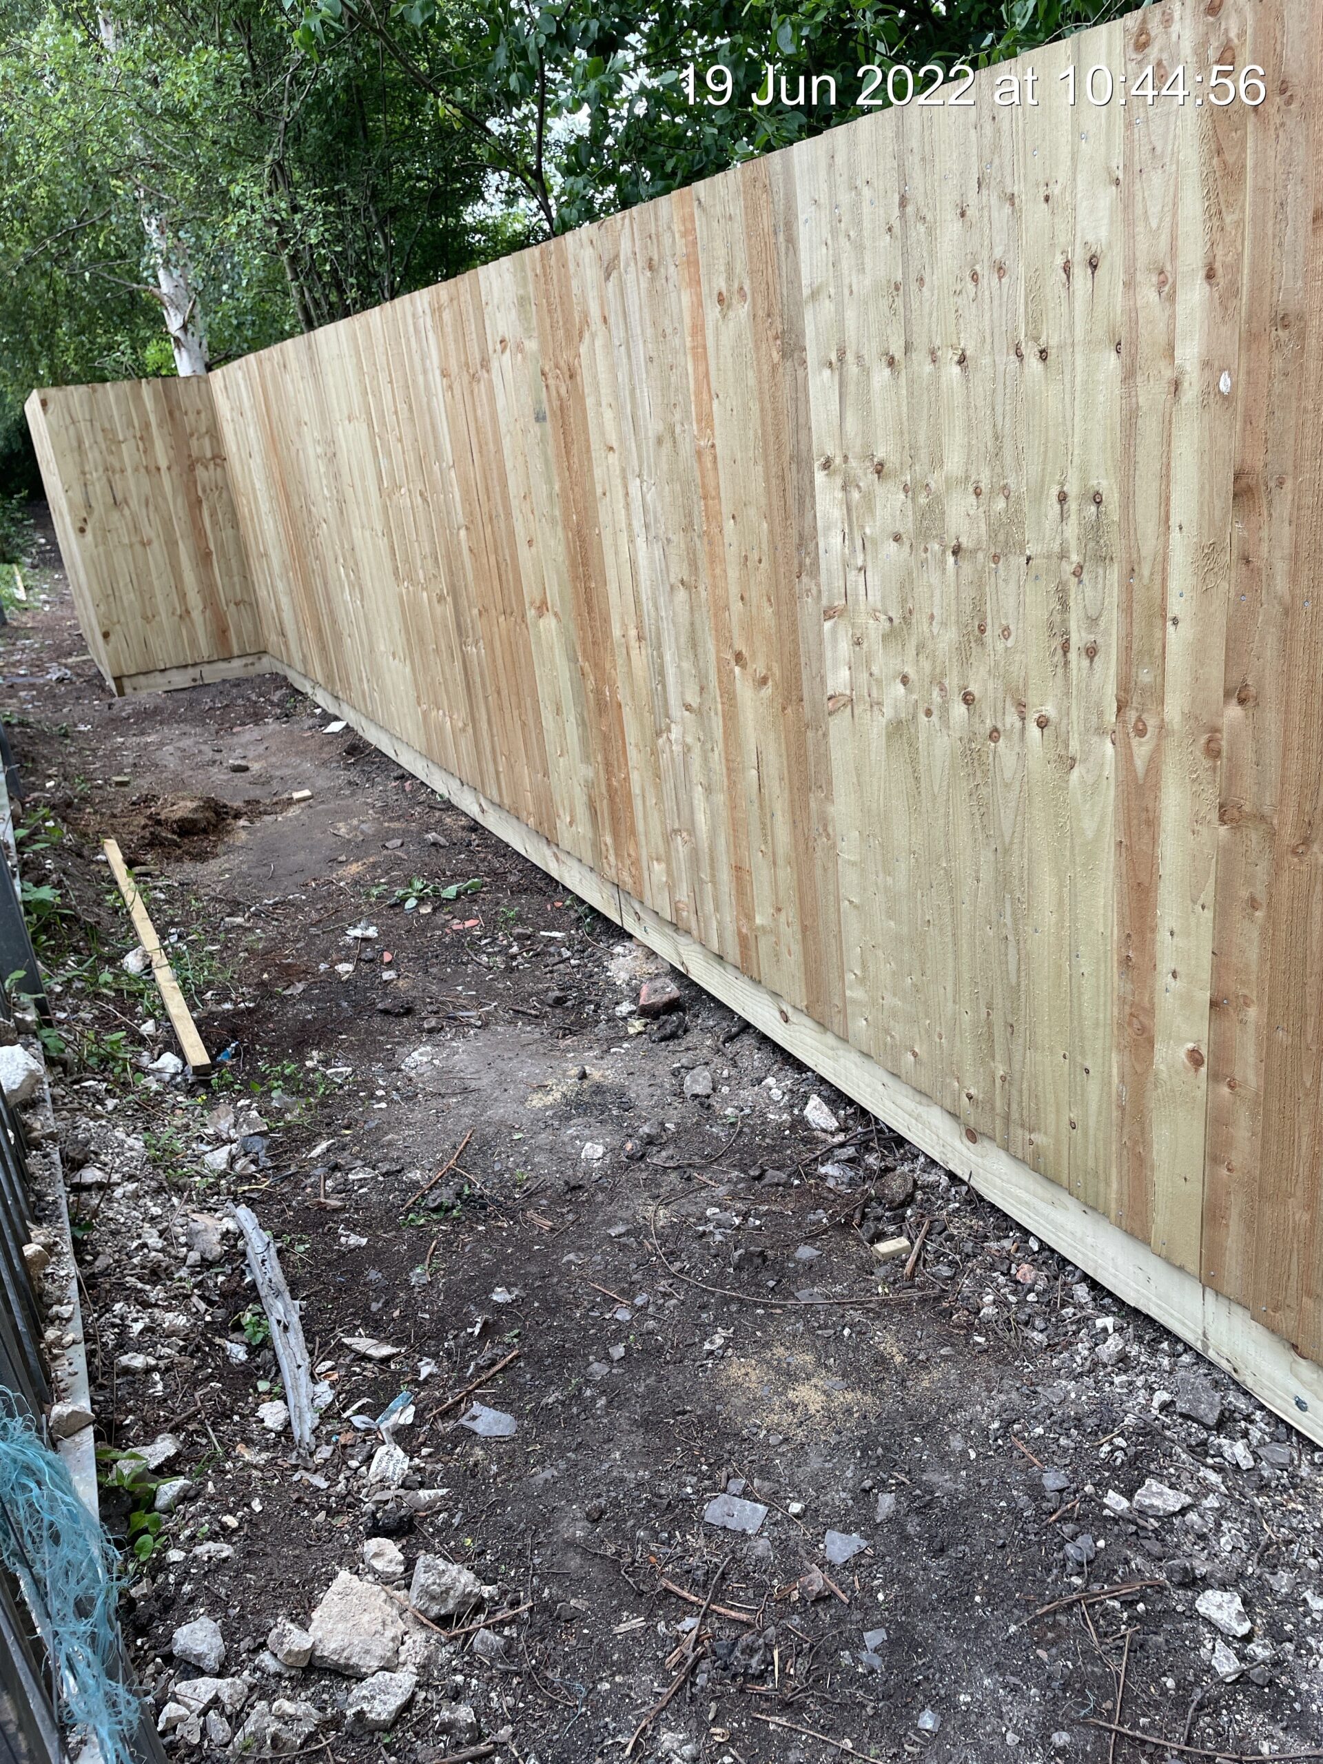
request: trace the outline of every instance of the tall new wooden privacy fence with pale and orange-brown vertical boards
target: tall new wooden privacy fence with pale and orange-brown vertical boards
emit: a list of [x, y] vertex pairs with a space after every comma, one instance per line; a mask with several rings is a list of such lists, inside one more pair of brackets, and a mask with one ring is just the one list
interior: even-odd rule
[[282, 669], [1323, 1438], [1323, 12], [1028, 60], [32, 429], [116, 686]]

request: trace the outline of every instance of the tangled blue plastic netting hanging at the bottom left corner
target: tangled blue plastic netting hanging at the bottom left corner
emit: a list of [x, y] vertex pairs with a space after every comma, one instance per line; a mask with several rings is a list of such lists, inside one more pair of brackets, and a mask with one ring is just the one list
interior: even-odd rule
[[[4, 1399], [0, 1392], [0, 1406]], [[92, 1734], [106, 1764], [131, 1764], [139, 1702], [118, 1671], [115, 1552], [58, 1454], [2, 1408], [0, 1561], [23, 1586], [51, 1653], [64, 1725]]]

